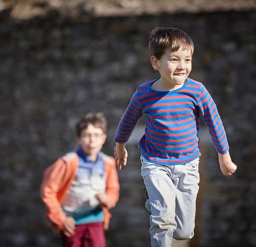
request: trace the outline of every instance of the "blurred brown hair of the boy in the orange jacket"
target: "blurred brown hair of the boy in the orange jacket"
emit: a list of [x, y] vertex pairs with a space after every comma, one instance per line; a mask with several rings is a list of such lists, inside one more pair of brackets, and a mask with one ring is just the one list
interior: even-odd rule
[[94, 127], [101, 128], [105, 133], [107, 130], [107, 120], [102, 112], [88, 112], [83, 115], [76, 124], [76, 136], [80, 137], [81, 132], [92, 124]]

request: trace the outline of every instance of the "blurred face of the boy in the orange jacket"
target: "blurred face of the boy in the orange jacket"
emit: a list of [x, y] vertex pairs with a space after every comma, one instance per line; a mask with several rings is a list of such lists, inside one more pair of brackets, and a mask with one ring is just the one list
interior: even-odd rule
[[81, 131], [77, 141], [83, 151], [91, 158], [95, 158], [105, 143], [107, 135], [99, 127], [88, 124], [86, 129]]

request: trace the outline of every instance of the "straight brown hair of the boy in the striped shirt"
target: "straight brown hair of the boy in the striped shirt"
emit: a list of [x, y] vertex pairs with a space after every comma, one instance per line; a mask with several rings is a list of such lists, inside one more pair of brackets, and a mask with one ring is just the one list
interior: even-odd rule
[[192, 39], [186, 32], [177, 28], [155, 28], [150, 32], [149, 49], [151, 56], [160, 59], [166, 49], [177, 52], [178, 49], [191, 49], [194, 52]]

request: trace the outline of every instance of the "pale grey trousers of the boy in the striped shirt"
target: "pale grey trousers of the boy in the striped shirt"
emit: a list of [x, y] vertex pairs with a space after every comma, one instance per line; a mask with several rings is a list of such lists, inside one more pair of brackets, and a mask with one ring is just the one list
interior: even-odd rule
[[183, 165], [164, 166], [141, 156], [141, 175], [149, 199], [151, 247], [171, 247], [172, 238], [194, 236], [199, 158]]

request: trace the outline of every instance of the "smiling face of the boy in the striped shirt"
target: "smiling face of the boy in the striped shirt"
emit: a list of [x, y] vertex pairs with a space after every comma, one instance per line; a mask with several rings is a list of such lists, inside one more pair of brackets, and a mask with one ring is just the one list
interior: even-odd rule
[[158, 70], [163, 83], [170, 86], [182, 86], [192, 69], [191, 50], [180, 48], [177, 52], [167, 49], [160, 59], [151, 57], [151, 63]]

